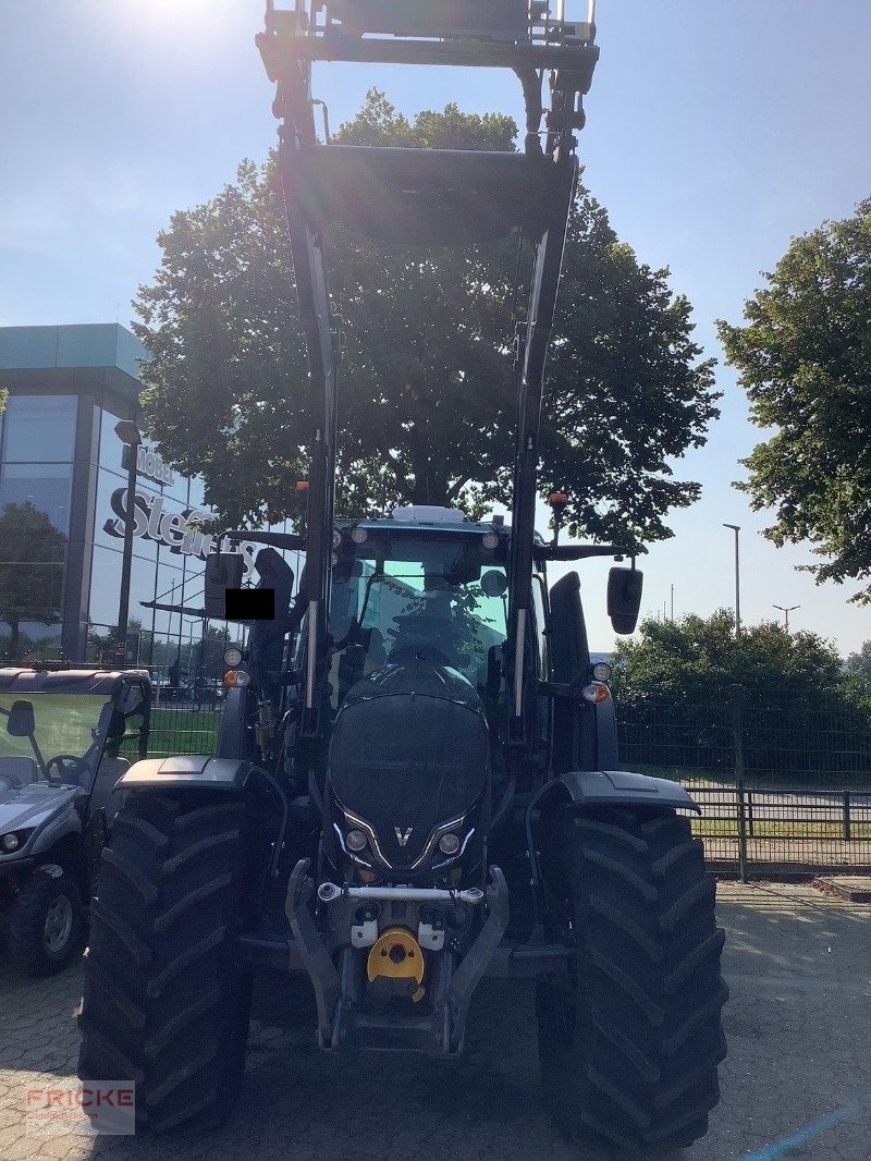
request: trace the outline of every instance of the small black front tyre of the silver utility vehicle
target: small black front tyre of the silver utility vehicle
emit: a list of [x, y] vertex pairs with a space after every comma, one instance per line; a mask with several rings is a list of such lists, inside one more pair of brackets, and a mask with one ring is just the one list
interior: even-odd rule
[[22, 975], [53, 975], [81, 951], [81, 893], [60, 867], [36, 868], [22, 885], [9, 918], [9, 959]]

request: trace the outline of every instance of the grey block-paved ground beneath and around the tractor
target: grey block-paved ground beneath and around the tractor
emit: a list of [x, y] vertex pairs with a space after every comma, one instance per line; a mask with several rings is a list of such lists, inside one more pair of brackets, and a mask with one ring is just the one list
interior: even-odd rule
[[[685, 1161], [871, 1159], [871, 907], [809, 887], [720, 886], [732, 989], [722, 1103]], [[531, 990], [484, 987], [459, 1067], [312, 1046], [311, 1004], [261, 979], [242, 1105], [208, 1139], [34, 1138], [27, 1086], [72, 1080], [79, 968], [22, 983], [0, 969], [0, 1159], [578, 1161], [542, 1112]], [[789, 1141], [796, 1148], [791, 1149]], [[664, 1161], [664, 1159], [661, 1159]], [[676, 1161], [676, 1159], [674, 1159]]]

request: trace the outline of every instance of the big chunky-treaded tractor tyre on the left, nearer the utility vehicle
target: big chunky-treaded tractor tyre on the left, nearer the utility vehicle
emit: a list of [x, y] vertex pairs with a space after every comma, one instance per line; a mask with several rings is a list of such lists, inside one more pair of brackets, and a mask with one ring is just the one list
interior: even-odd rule
[[136, 1082], [137, 1132], [216, 1127], [245, 1068], [251, 971], [233, 937], [254, 906], [246, 806], [131, 793], [91, 910], [79, 1076]]

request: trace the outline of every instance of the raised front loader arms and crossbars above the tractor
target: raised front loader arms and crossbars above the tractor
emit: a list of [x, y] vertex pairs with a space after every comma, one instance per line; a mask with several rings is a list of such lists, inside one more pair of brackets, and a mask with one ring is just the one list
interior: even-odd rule
[[[538, 437], [547, 347], [553, 330], [554, 310], [562, 265], [566, 230], [577, 179], [575, 131], [583, 127], [581, 100], [588, 92], [598, 59], [593, 44], [593, 12], [582, 24], [541, 15], [541, 6], [531, 8], [528, 37], [513, 42], [484, 39], [415, 39], [408, 37], [368, 38], [341, 33], [323, 19], [324, 6], [312, 0], [307, 12], [297, 5], [294, 12], [279, 10], [267, 0], [266, 31], [257, 44], [267, 73], [275, 81], [275, 116], [280, 127], [279, 170], [287, 215], [288, 236], [296, 277], [300, 319], [305, 334], [311, 399], [311, 435], [309, 442], [309, 492], [307, 515], [307, 569], [304, 601], [308, 610], [307, 649], [301, 740], [309, 745], [309, 763], [314, 760], [318, 735], [317, 682], [326, 661], [326, 610], [330, 598], [330, 556], [333, 534], [336, 475], [336, 416], [338, 394], [338, 337], [331, 313], [325, 273], [324, 230], [330, 224], [324, 209], [331, 183], [321, 176], [326, 154], [338, 150], [317, 140], [315, 101], [311, 93], [312, 63], [346, 60], [393, 64], [425, 64], [510, 68], [518, 74], [526, 104], [524, 154], [468, 153], [432, 151], [436, 159], [451, 152], [451, 174], [446, 178], [442, 209], [451, 211], [452, 200], [472, 210], [460, 223], [463, 240], [474, 241], [492, 231], [483, 221], [474, 219], [474, 208], [491, 200], [499, 224], [508, 230], [519, 228], [535, 247], [535, 262], [530, 288], [525, 323], [518, 327], [516, 370], [518, 377], [516, 454], [513, 468], [511, 569], [509, 589], [509, 642], [505, 679], [509, 683], [510, 715], [503, 741], [509, 744], [512, 765], [520, 759], [524, 737], [524, 650], [530, 627], [532, 592], [534, 513], [537, 497]], [[560, 6], [560, 12], [562, 6]], [[329, 10], [329, 3], [327, 3]], [[541, 88], [548, 72], [550, 108], [547, 111], [544, 147], [539, 137], [542, 116]], [[390, 181], [390, 164], [402, 150], [374, 146], [345, 153], [358, 165], [377, 173], [382, 188]], [[419, 151], [415, 151], [419, 154]], [[390, 158], [387, 154], [391, 154]], [[534, 205], [525, 208], [497, 205], [497, 183], [485, 182], [488, 166], [524, 167], [525, 183], [532, 187]], [[402, 161], [402, 158], [398, 158]], [[381, 168], [379, 170], [380, 163]], [[438, 165], [438, 161], [436, 163]], [[401, 168], [401, 166], [399, 166]], [[430, 166], [430, 178], [433, 167]], [[309, 176], [307, 178], [307, 171]], [[527, 171], [527, 172], [526, 172]], [[312, 176], [314, 175], [314, 176]], [[434, 171], [438, 179], [438, 170]], [[483, 176], [482, 176], [483, 175]], [[311, 179], [323, 197], [305, 195]], [[395, 179], [393, 194], [397, 194]], [[481, 181], [481, 187], [476, 181]], [[482, 196], [482, 190], [484, 194]], [[440, 192], [437, 189], [436, 196]], [[420, 194], [423, 196], [423, 194]], [[432, 200], [432, 188], [426, 196]], [[503, 202], [505, 202], [503, 195]], [[398, 204], [398, 202], [397, 202]], [[432, 202], [429, 203], [430, 208]], [[334, 211], [337, 212], [337, 211]], [[516, 215], [512, 218], [512, 214]], [[426, 218], [427, 215], [419, 215]], [[456, 215], [455, 215], [456, 217]], [[384, 237], [383, 221], [377, 228]], [[452, 226], [445, 222], [446, 236]], [[505, 230], [504, 232], [508, 232]], [[396, 239], [393, 239], [396, 240]]]

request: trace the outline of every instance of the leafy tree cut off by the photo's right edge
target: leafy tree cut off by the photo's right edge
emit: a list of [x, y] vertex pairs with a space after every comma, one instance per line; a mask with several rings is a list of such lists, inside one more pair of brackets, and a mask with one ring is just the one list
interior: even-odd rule
[[[750, 418], [777, 431], [742, 461], [737, 484], [765, 535], [809, 541], [823, 580], [871, 578], [871, 199], [852, 217], [794, 238], [744, 304], [746, 326], [719, 323]], [[871, 585], [852, 600], [871, 601]]]

